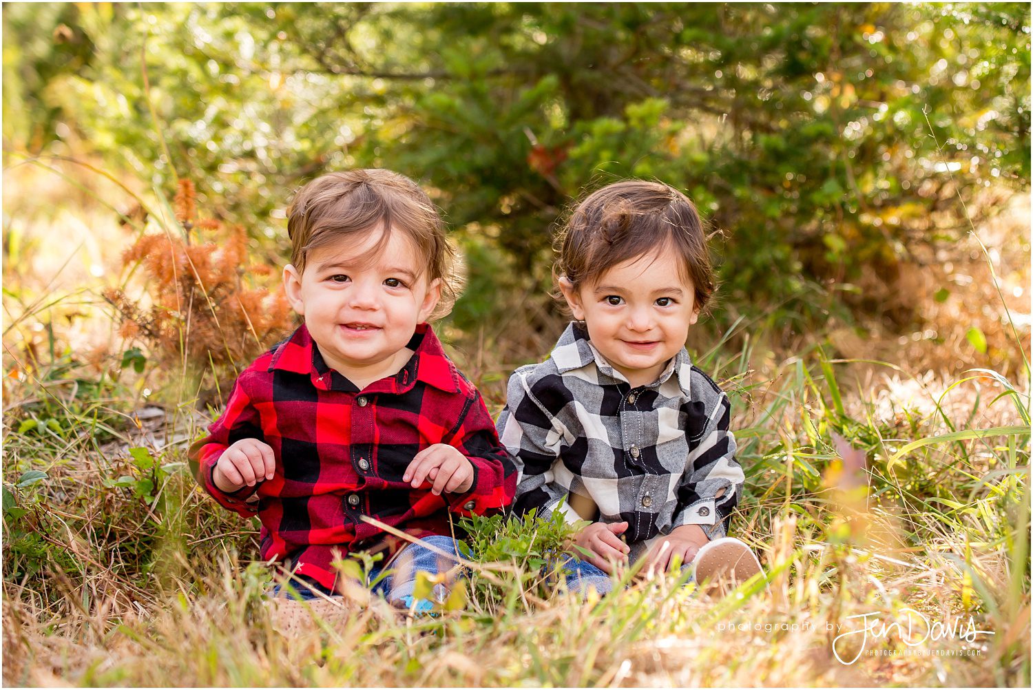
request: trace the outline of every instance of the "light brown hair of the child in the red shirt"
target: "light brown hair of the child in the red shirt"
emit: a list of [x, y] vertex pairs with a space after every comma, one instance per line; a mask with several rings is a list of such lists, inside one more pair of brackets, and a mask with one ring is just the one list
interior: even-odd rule
[[287, 210], [290, 262], [300, 274], [305, 273], [310, 251], [380, 228], [383, 236], [369, 255], [381, 251], [393, 231], [404, 233], [428, 258], [428, 282], [441, 279], [441, 299], [430, 318], [441, 318], [451, 311], [462, 286], [456, 249], [427, 193], [392, 170], [330, 173], [302, 187]]

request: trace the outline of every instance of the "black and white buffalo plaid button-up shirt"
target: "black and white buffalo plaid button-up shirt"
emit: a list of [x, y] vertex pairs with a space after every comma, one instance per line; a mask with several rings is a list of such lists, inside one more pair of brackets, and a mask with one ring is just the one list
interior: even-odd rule
[[681, 525], [724, 535], [745, 479], [728, 431], [728, 397], [682, 350], [632, 388], [572, 322], [545, 362], [509, 378], [499, 436], [515, 457], [513, 510], [564, 511], [590, 497], [604, 523], [627, 521], [632, 561]]

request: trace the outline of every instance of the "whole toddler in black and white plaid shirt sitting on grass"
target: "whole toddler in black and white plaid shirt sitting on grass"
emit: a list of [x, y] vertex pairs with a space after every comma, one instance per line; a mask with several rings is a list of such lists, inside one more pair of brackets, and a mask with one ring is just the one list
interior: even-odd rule
[[514, 511], [591, 521], [570, 589], [608, 591], [615, 564], [638, 558], [650, 571], [696, 561], [702, 579], [708, 551], [709, 578], [752, 575], [752, 552], [722, 538], [744, 481], [728, 398], [685, 349], [715, 288], [695, 207], [663, 184], [616, 183], [577, 206], [558, 246], [576, 320], [512, 374], [498, 420], [520, 470]]

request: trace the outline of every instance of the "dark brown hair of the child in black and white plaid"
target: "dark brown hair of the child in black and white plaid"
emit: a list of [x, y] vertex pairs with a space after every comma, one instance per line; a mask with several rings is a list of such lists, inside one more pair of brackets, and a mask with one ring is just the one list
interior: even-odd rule
[[717, 288], [707, 236], [696, 207], [659, 182], [625, 180], [589, 194], [556, 239], [554, 277], [575, 290], [594, 284], [613, 266], [669, 248], [682, 258], [702, 310]]

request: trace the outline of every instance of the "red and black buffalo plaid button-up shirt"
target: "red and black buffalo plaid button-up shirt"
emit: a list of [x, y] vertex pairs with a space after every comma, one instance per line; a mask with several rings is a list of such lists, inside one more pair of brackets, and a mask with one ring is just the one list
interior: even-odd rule
[[[416, 327], [409, 348], [414, 354], [401, 371], [359, 391], [326, 366], [303, 325], [238, 377], [222, 416], [189, 458], [220, 505], [258, 515], [262, 559], [289, 559], [295, 573], [333, 588], [337, 554], [372, 548], [389, 557], [404, 545], [361, 515], [419, 538], [452, 534], [449, 512], [483, 514], [512, 501], [515, 465], [480, 394], [428, 324]], [[273, 447], [276, 474], [226, 494], [212, 472], [243, 438]], [[413, 456], [435, 443], [470, 460], [470, 491], [435, 496], [429, 483], [402, 481]]]

